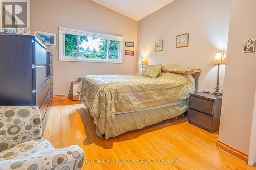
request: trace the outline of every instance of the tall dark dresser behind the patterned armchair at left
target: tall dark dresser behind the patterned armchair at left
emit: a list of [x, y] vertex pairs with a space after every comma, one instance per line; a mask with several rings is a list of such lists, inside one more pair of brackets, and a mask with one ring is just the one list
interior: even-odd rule
[[52, 99], [52, 55], [35, 36], [0, 35], [0, 106], [38, 106], [44, 133]]

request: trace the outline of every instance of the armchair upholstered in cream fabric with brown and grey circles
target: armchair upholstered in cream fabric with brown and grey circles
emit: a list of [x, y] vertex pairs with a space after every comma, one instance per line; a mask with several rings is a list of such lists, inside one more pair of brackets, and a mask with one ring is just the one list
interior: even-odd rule
[[55, 149], [41, 139], [38, 107], [0, 107], [0, 170], [81, 169], [83, 159], [76, 145]]

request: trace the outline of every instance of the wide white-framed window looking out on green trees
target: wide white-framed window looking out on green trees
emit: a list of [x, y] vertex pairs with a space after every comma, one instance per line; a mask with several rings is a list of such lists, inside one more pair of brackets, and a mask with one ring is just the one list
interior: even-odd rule
[[123, 37], [59, 28], [59, 60], [122, 63]]

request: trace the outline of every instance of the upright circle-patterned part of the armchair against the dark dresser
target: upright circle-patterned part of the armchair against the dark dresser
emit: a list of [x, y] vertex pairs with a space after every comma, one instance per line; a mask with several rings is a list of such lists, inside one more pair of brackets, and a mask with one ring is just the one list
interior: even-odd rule
[[0, 152], [40, 139], [41, 113], [37, 106], [0, 106]]

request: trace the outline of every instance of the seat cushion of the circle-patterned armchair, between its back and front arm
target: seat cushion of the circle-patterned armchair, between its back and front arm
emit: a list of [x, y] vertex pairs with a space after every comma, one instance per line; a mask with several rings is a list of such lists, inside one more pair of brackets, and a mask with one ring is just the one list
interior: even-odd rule
[[37, 153], [55, 149], [53, 145], [45, 139], [31, 140], [13, 148], [0, 152], [0, 161], [12, 158], [24, 158]]

